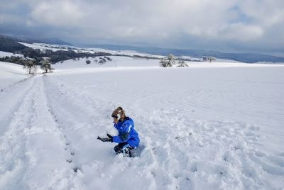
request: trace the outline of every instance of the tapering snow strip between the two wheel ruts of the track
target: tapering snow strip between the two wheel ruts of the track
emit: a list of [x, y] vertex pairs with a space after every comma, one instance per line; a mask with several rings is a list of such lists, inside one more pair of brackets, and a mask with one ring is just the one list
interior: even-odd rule
[[40, 163], [33, 163], [29, 167], [29, 185], [32, 189], [83, 189], [80, 177], [74, 174], [72, 165], [67, 162], [70, 159], [68, 146], [50, 112], [43, 77], [37, 82], [33, 104], [35, 115], [31, 128], [26, 130], [26, 137], [27, 154], [33, 158], [33, 162]]

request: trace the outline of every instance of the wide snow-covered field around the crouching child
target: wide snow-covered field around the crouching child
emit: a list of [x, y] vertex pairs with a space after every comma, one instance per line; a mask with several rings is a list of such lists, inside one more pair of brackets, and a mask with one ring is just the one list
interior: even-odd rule
[[[111, 58], [32, 77], [0, 62], [0, 189], [284, 188], [283, 65]], [[117, 106], [138, 157], [97, 140]]]

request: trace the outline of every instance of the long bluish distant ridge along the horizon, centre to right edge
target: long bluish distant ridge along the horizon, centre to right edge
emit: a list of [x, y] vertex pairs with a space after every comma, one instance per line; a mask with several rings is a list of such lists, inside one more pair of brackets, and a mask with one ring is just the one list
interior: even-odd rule
[[284, 57], [277, 57], [272, 55], [261, 55], [255, 53], [234, 53], [234, 52], [217, 52], [206, 50], [183, 50], [174, 48], [163, 48], [153, 46], [131, 46], [131, 45], [89, 45], [89, 47], [102, 47], [109, 50], [134, 50], [138, 52], [145, 52], [153, 55], [168, 55], [173, 54], [175, 56], [190, 56], [190, 57], [202, 57], [213, 56], [219, 59], [236, 60], [239, 62], [284, 62]]

